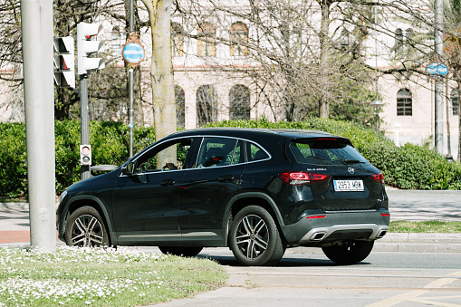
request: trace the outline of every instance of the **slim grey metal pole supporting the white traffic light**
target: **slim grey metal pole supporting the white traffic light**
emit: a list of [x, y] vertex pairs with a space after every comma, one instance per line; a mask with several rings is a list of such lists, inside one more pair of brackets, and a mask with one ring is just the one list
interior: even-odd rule
[[[90, 145], [90, 120], [88, 120], [88, 74], [80, 75], [80, 135], [82, 145]], [[91, 167], [81, 166], [82, 180], [91, 177]]]

